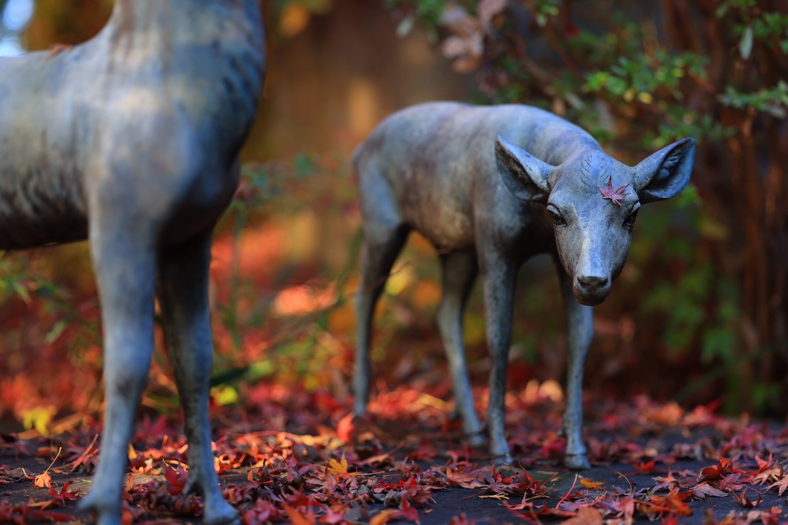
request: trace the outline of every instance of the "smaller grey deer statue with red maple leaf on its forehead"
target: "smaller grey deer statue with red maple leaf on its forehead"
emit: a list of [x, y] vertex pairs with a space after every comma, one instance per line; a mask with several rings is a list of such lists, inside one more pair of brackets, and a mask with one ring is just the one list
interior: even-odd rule
[[685, 187], [695, 144], [683, 139], [634, 168], [591, 135], [542, 109], [433, 102], [389, 116], [354, 158], [364, 242], [356, 301], [355, 412], [366, 412], [374, 305], [407, 234], [440, 253], [437, 324], [448, 355], [463, 430], [483, 442], [463, 348], [463, 310], [478, 273], [484, 292], [490, 374], [489, 447], [511, 462], [504, 393], [512, 295], [519, 267], [552, 253], [569, 333], [564, 464], [588, 468], [582, 440], [582, 375], [593, 337], [593, 305], [610, 293], [630, 250], [641, 204]]

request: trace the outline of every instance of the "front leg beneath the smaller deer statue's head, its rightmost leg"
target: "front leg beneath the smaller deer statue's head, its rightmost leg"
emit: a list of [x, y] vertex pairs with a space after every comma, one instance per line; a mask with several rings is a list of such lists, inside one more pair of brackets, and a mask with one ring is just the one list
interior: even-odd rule
[[569, 356], [567, 358], [567, 408], [563, 412], [563, 433], [567, 437], [567, 450], [563, 464], [567, 468], [590, 468], [583, 444], [583, 369], [593, 338], [593, 307], [578, 303], [572, 292], [571, 280], [561, 275], [561, 294], [567, 312]]

